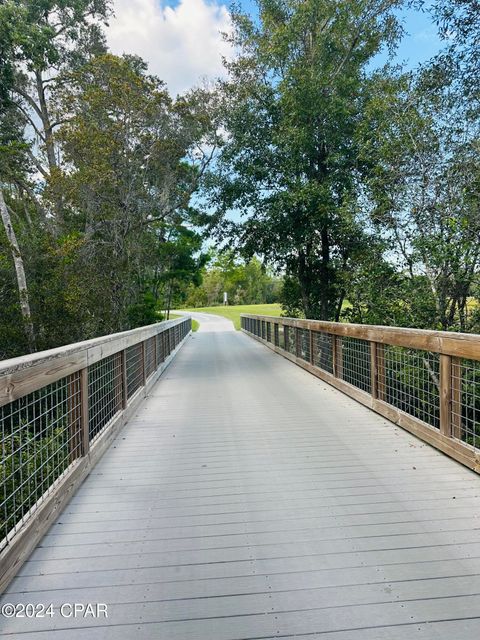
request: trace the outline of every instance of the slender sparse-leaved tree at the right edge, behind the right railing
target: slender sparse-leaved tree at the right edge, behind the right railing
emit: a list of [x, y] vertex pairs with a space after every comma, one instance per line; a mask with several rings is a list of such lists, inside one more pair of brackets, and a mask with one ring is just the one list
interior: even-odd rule
[[428, 282], [426, 327], [467, 330], [480, 267], [478, 124], [436, 63], [376, 87], [361, 127], [362, 159], [375, 167], [366, 185], [373, 222], [403, 273]]

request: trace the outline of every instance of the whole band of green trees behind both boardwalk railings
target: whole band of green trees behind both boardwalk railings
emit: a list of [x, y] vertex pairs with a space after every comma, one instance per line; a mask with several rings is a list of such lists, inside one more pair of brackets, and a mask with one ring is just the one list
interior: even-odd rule
[[[173, 97], [108, 51], [108, 0], [0, 1], [1, 357], [224, 291], [479, 330], [478, 3], [256, 4], [224, 78]], [[407, 71], [412, 4], [444, 46]]]

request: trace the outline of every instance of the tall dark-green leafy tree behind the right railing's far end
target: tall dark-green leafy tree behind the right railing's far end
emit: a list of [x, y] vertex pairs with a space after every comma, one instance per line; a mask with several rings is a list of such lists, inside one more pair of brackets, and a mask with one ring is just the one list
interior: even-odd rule
[[[366, 68], [399, 30], [387, 0], [260, 0], [259, 24], [233, 14], [225, 128], [212, 179], [214, 223], [297, 283], [307, 317], [338, 319], [359, 244], [355, 132]], [[244, 221], [225, 219], [235, 209]]]

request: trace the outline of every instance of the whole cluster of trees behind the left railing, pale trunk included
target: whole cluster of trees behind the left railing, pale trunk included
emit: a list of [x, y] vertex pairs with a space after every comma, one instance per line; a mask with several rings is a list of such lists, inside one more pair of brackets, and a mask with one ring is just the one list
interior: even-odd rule
[[40, 349], [156, 321], [159, 282], [183, 290], [203, 264], [192, 196], [214, 96], [173, 100], [141, 59], [109, 55], [108, 15], [107, 0], [0, 0], [4, 357], [33, 348], [32, 318]]

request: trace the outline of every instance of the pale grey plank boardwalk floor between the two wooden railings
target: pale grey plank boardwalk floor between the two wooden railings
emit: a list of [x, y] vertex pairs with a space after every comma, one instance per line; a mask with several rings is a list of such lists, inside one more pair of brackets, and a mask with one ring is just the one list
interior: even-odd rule
[[187, 342], [3, 597], [53, 616], [1, 636], [479, 638], [479, 477], [230, 328]]

